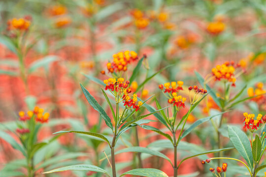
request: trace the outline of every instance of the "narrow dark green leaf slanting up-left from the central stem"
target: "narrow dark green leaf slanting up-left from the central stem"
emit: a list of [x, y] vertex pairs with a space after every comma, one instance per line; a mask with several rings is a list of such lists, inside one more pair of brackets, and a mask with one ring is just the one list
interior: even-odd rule
[[88, 102], [90, 103], [90, 105], [93, 107], [93, 109], [95, 109], [96, 111], [98, 111], [100, 113], [100, 116], [104, 119], [106, 125], [113, 130], [113, 125], [111, 123], [111, 119], [105, 113], [105, 111], [102, 109], [102, 107], [100, 106], [100, 104], [90, 94], [90, 92], [82, 86], [82, 84], [80, 84], [80, 87], [81, 87], [81, 89], [82, 89], [82, 91], [83, 91], [86, 99], [88, 100]]

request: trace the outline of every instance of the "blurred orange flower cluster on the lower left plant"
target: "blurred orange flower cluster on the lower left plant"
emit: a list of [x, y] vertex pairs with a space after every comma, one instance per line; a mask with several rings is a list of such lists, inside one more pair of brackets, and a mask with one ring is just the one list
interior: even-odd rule
[[41, 123], [48, 122], [50, 114], [49, 113], [43, 114], [43, 112], [44, 110], [42, 108], [35, 106], [33, 111], [27, 112], [27, 115], [25, 114], [25, 112], [20, 111], [19, 120], [26, 121], [30, 120], [31, 118], [35, 118], [36, 121], [39, 121]]

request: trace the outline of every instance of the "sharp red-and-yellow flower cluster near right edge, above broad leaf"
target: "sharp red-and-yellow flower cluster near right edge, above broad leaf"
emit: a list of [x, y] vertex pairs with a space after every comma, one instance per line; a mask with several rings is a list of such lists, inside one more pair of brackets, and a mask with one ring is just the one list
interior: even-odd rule
[[266, 116], [263, 117], [262, 114], [258, 114], [256, 120], [254, 119], [255, 118], [254, 114], [243, 113], [243, 115], [245, 117], [243, 120], [243, 122], [245, 122], [243, 129], [247, 128], [249, 129], [250, 132], [254, 132], [254, 129], [257, 130], [260, 124], [266, 122]]

